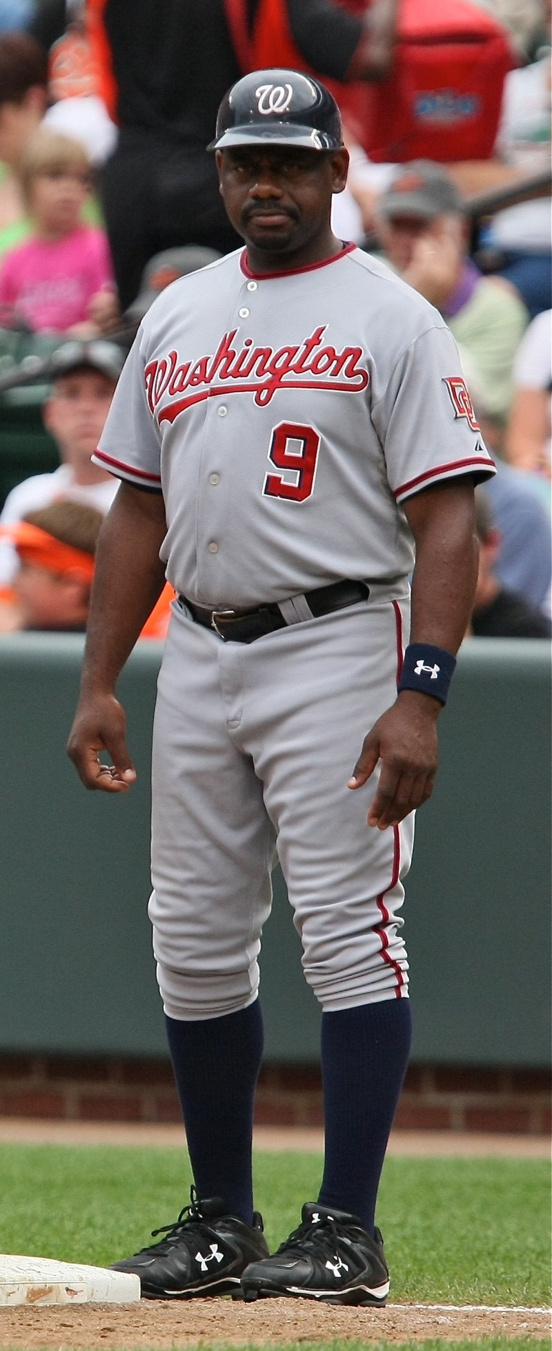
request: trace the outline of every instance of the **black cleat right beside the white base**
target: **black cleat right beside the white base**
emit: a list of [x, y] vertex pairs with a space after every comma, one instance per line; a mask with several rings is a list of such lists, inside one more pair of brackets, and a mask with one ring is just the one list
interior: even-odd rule
[[142, 1248], [132, 1258], [113, 1262], [112, 1271], [139, 1275], [144, 1300], [193, 1300], [215, 1294], [242, 1298], [240, 1275], [251, 1262], [269, 1256], [263, 1221], [255, 1212], [246, 1224], [228, 1215], [220, 1197], [200, 1201], [192, 1188], [190, 1205], [174, 1224], [154, 1229], [151, 1238], [166, 1233], [159, 1243]]

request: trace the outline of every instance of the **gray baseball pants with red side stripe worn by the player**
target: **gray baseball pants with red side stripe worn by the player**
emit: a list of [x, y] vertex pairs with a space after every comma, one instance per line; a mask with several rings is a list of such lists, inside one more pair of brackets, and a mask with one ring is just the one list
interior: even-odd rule
[[367, 601], [225, 643], [174, 604], [158, 681], [148, 913], [173, 1019], [258, 993], [275, 848], [324, 1011], [408, 996], [402, 878], [414, 821], [378, 831], [363, 738], [393, 704], [408, 600]]

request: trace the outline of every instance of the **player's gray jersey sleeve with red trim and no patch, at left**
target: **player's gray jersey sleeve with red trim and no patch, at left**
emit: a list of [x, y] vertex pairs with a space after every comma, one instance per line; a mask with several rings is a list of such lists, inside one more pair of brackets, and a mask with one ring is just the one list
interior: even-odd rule
[[136, 488], [161, 492], [161, 449], [146, 399], [142, 342], [143, 334], [139, 330], [92, 459], [116, 478], [127, 478]]

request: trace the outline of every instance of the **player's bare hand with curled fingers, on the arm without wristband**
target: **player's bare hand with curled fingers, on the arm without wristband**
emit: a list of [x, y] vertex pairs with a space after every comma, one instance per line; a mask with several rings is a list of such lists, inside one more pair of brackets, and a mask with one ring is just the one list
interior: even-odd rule
[[[115, 694], [81, 698], [69, 734], [67, 755], [85, 788], [128, 792], [136, 770], [127, 750], [126, 730], [124, 708]], [[100, 751], [107, 751], [113, 763], [101, 765]]]

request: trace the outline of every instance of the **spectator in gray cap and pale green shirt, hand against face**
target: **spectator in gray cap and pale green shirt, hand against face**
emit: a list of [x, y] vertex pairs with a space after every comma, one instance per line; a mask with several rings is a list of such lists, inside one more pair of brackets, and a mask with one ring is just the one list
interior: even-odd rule
[[386, 261], [440, 311], [471, 353], [486, 407], [505, 417], [528, 312], [509, 282], [483, 277], [467, 257], [468, 220], [443, 165], [401, 165], [378, 201], [375, 227]]

